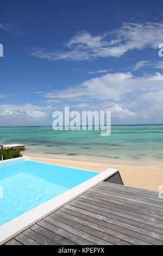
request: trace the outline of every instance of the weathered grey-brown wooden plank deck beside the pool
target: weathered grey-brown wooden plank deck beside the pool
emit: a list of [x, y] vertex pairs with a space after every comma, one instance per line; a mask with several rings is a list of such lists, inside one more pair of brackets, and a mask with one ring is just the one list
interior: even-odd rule
[[101, 182], [5, 245], [163, 245], [163, 199]]

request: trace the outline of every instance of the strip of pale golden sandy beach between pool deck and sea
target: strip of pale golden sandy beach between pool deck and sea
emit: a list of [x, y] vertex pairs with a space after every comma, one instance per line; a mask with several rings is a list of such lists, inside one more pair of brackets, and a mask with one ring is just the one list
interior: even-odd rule
[[34, 161], [59, 164], [68, 167], [103, 172], [108, 168], [118, 169], [126, 186], [159, 191], [163, 185], [163, 165], [161, 162], [143, 162], [104, 159], [101, 157], [29, 154]]

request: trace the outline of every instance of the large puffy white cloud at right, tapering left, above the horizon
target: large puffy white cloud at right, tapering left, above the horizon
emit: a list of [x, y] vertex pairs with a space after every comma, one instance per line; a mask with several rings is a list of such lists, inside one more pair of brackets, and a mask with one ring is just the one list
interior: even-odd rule
[[[111, 109], [113, 117], [140, 118], [156, 116], [156, 109], [163, 109], [163, 74], [136, 77], [130, 72], [105, 74], [91, 78], [78, 86], [64, 90], [44, 92], [46, 103], [68, 105], [80, 110]], [[152, 110], [153, 109], [153, 110]], [[154, 117], [155, 118], [155, 117]], [[163, 118], [163, 112], [160, 113]]]

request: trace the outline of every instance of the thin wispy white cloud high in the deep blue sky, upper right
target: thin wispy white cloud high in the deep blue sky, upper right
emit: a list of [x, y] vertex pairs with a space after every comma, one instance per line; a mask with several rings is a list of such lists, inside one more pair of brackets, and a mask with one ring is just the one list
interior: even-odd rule
[[67, 42], [67, 50], [47, 51], [33, 48], [32, 55], [43, 59], [89, 60], [100, 57], [120, 57], [127, 51], [157, 48], [163, 41], [163, 24], [156, 22], [124, 22], [120, 29], [93, 36], [79, 32]]

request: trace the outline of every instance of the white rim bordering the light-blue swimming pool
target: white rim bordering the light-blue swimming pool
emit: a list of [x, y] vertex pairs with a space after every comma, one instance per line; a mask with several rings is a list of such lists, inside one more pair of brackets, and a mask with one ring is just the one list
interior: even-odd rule
[[[4, 160], [4, 162], [11, 162], [16, 160], [29, 160], [30, 157], [19, 157], [19, 159], [11, 159], [11, 160]], [[0, 162], [0, 164], [2, 163]], [[69, 168], [69, 167], [68, 167]], [[89, 170], [87, 170], [89, 171]], [[92, 171], [91, 171], [92, 172]], [[52, 212], [58, 210], [65, 204], [71, 202], [74, 198], [77, 198], [81, 194], [85, 193], [90, 188], [96, 186], [103, 180], [109, 178], [111, 175], [118, 172], [117, 169], [107, 169], [104, 172], [97, 174], [93, 178], [84, 181], [82, 184], [79, 184], [76, 187], [71, 188], [70, 190], [60, 194], [59, 196], [48, 200], [46, 203], [43, 203], [36, 208], [14, 218], [3, 225], [0, 226], [0, 245], [3, 245], [5, 242], [12, 239], [17, 234], [20, 234], [22, 231], [26, 230], [27, 228], [31, 227], [36, 222], [42, 220]]]

